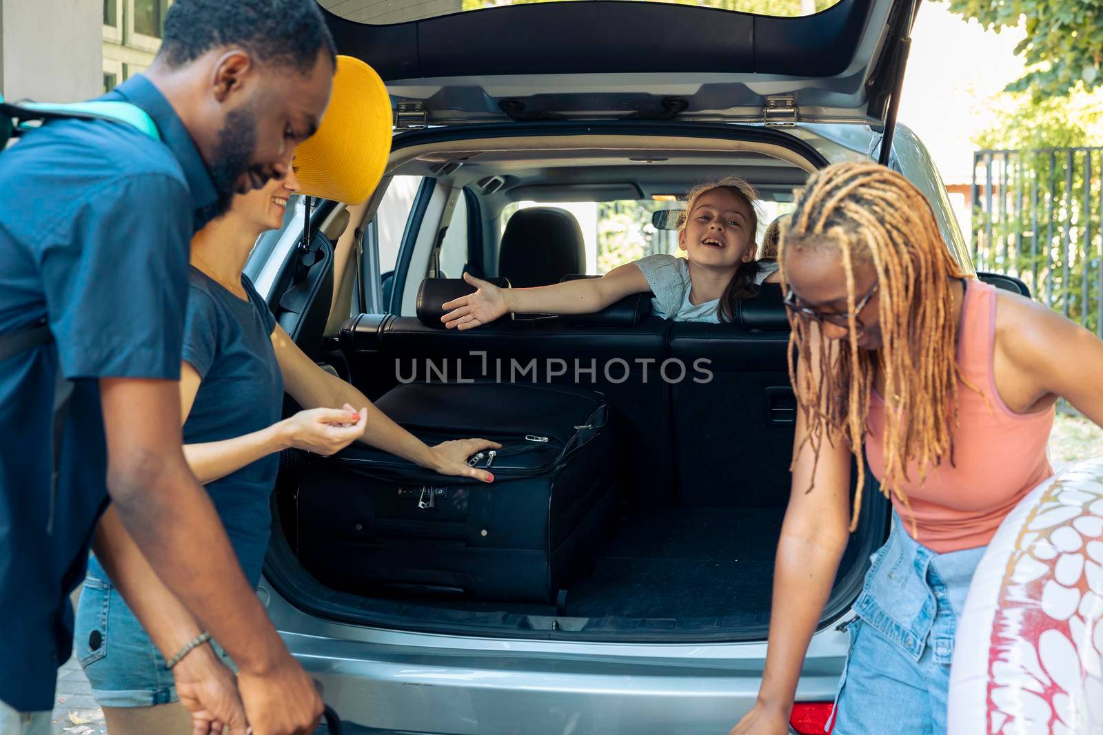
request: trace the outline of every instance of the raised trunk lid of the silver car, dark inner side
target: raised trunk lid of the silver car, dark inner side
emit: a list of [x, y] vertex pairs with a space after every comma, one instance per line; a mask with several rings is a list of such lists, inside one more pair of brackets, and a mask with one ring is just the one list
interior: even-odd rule
[[919, 0], [319, 0], [399, 129], [528, 120], [882, 125]]

